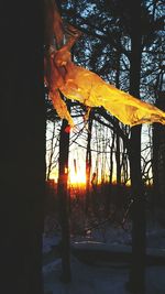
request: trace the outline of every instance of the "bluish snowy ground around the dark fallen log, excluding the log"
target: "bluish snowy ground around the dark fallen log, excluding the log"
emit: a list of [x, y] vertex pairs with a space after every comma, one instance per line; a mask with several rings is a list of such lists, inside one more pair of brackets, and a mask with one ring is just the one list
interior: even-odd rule
[[[91, 240], [91, 237], [89, 238]], [[107, 230], [96, 230], [95, 241], [105, 241], [106, 248], [130, 247], [131, 236], [122, 228], [111, 227]], [[129, 294], [125, 283], [129, 280], [129, 264], [106, 263], [87, 264], [72, 254], [72, 276], [69, 284], [61, 281], [62, 260], [55, 253], [59, 242], [59, 233], [44, 235], [43, 241], [43, 275], [45, 294]], [[87, 238], [76, 238], [75, 241], [86, 241]], [[165, 228], [154, 224], [146, 231], [147, 247], [165, 257]], [[103, 244], [103, 246], [105, 246]], [[88, 246], [88, 243], [87, 243]], [[91, 247], [91, 243], [90, 243]], [[141, 294], [141, 293], [140, 293]], [[146, 266], [146, 294], [165, 294], [165, 265]]]

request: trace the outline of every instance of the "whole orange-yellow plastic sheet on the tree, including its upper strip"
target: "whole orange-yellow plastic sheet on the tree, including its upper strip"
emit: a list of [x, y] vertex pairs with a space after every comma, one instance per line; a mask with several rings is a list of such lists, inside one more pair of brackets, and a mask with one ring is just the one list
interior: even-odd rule
[[77, 100], [88, 107], [102, 106], [112, 116], [131, 127], [152, 122], [165, 124], [164, 111], [107, 84], [97, 74], [72, 62], [69, 51], [80, 32], [67, 25], [66, 31], [72, 32], [68, 35], [55, 1], [45, 0], [45, 30], [48, 36], [46, 45], [50, 45], [45, 54], [45, 84], [58, 116], [67, 119], [70, 127], [74, 127], [74, 121], [61, 98], [62, 92], [66, 98]]

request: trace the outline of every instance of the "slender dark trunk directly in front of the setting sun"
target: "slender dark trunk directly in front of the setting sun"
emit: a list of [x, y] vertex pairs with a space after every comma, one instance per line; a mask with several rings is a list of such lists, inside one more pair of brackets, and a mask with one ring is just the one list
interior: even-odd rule
[[70, 237], [69, 237], [69, 196], [68, 196], [68, 152], [69, 132], [67, 132], [67, 121], [63, 120], [59, 138], [59, 175], [58, 175], [58, 200], [59, 200], [59, 221], [62, 227], [62, 280], [70, 282]]

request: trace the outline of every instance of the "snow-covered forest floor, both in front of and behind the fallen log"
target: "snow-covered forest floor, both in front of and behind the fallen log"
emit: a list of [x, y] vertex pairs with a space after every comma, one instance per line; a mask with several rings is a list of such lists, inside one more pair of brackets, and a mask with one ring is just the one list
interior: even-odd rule
[[[72, 283], [61, 281], [62, 260], [58, 251], [61, 231], [47, 230], [43, 235], [43, 276], [45, 294], [129, 294], [129, 263], [118, 259], [99, 259], [87, 262], [72, 251]], [[165, 294], [165, 228], [157, 221], [150, 221], [146, 230], [147, 253], [156, 257], [146, 265], [146, 294]], [[72, 248], [90, 249], [92, 252], [112, 250], [130, 252], [131, 235], [116, 225], [97, 228], [90, 236], [73, 236]], [[90, 254], [91, 255], [91, 254]], [[109, 255], [109, 253], [108, 253]], [[157, 258], [158, 257], [158, 258]], [[140, 293], [141, 294], [141, 293]]]

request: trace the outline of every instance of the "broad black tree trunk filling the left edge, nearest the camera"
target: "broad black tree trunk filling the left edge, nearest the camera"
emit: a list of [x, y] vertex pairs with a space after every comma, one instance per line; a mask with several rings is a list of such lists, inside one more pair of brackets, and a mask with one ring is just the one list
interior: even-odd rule
[[45, 190], [43, 3], [2, 2], [0, 292], [41, 294]]

